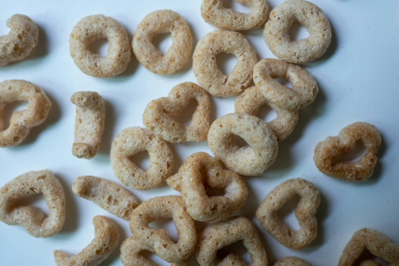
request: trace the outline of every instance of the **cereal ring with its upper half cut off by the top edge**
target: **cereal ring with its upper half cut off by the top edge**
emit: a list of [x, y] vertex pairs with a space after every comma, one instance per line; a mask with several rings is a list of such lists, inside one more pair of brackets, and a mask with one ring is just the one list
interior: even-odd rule
[[251, 7], [251, 12], [241, 13], [223, 7], [223, 0], [204, 0], [201, 16], [216, 28], [230, 31], [258, 29], [266, 21], [269, 6], [266, 0], [236, 0], [237, 3]]

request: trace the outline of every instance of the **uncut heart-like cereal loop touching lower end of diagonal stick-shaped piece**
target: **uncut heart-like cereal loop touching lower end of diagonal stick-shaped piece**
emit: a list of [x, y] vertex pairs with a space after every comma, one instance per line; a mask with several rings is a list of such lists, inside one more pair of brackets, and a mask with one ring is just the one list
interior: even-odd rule
[[[167, 230], [148, 226], [162, 218], [173, 219], [179, 235], [177, 243], [170, 240]], [[141, 203], [132, 212], [130, 230], [141, 244], [152, 247], [159, 257], [170, 263], [187, 259], [196, 242], [194, 220], [180, 196], [155, 197]]]

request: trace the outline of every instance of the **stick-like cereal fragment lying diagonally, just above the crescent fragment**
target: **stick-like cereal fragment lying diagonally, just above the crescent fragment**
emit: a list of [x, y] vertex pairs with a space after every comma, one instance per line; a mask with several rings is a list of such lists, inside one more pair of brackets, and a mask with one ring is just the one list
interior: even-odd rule
[[140, 201], [121, 185], [90, 175], [79, 176], [72, 184], [72, 191], [128, 221], [133, 209], [140, 204]]

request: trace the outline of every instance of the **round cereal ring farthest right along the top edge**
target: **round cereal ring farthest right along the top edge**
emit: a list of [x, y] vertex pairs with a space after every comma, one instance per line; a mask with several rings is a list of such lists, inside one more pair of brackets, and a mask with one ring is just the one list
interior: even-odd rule
[[[291, 40], [288, 32], [293, 22], [304, 25], [309, 37]], [[326, 52], [331, 43], [331, 25], [316, 5], [305, 0], [290, 0], [270, 12], [263, 37], [275, 56], [301, 64], [316, 60]]]

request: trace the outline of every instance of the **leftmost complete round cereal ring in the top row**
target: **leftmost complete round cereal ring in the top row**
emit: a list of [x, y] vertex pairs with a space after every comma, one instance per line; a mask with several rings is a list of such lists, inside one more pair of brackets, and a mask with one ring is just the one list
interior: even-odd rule
[[[108, 55], [92, 52], [91, 43], [107, 38]], [[90, 76], [112, 77], [122, 73], [131, 59], [129, 36], [121, 24], [112, 17], [92, 15], [82, 18], [73, 27], [69, 38], [69, 50], [73, 62]]]

